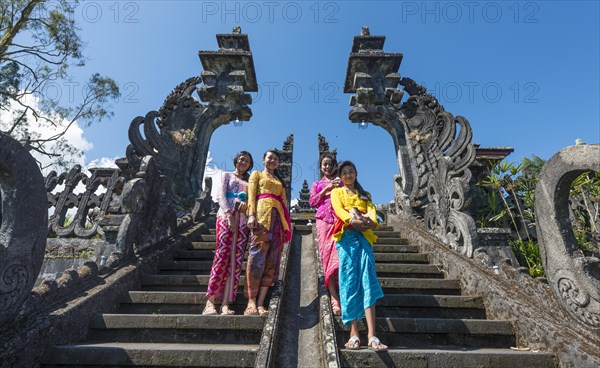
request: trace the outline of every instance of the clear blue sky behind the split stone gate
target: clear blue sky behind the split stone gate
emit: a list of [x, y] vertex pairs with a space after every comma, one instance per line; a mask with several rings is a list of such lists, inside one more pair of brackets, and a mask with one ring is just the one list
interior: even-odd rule
[[249, 36], [261, 91], [250, 122], [213, 135], [213, 164], [233, 169], [242, 149], [260, 162], [294, 133], [293, 197], [317, 178], [320, 132], [339, 159], [356, 163], [376, 203], [393, 198], [391, 137], [348, 120], [343, 81], [361, 26], [404, 54], [402, 76], [469, 120], [474, 142], [513, 147], [511, 161], [547, 159], [576, 138], [600, 141], [597, 1], [87, 1], [76, 13], [89, 60], [74, 76], [99, 72], [122, 92], [114, 118], [85, 129], [87, 161], [124, 156], [131, 120], [200, 75], [198, 51], [216, 50], [215, 34], [234, 25]]

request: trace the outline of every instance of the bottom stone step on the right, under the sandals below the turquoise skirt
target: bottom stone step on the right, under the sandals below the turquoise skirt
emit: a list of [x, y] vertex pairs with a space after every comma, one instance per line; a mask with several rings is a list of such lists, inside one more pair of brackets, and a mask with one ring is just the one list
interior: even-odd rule
[[515, 351], [511, 349], [389, 349], [373, 353], [366, 349], [340, 350], [342, 367], [426, 367], [426, 368], [551, 368], [554, 358], [545, 353]]

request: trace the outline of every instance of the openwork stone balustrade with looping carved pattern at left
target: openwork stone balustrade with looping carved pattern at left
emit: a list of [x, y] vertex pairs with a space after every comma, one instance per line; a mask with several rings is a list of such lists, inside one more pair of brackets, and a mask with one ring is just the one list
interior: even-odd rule
[[[118, 169], [92, 168], [91, 176], [81, 172], [81, 166], [75, 165], [70, 171], [57, 175], [51, 171], [46, 176], [48, 205], [54, 208], [48, 220], [48, 231], [58, 237], [79, 237], [89, 239], [95, 235], [105, 236], [101, 223], [111, 207], [119, 207], [118, 197], [123, 188], [124, 178], [119, 176]], [[75, 194], [79, 183], [85, 185], [85, 191]], [[64, 188], [56, 193], [58, 185]], [[98, 188], [104, 192], [97, 194]], [[70, 222], [65, 224], [67, 212], [76, 208], [77, 212]]]

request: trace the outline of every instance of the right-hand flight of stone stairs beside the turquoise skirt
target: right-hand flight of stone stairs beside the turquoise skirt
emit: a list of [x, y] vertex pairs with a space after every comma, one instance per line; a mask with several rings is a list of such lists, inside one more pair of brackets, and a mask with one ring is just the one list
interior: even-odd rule
[[486, 319], [483, 300], [461, 295], [458, 280], [444, 278], [428, 255], [399, 232], [381, 227], [374, 245], [385, 296], [376, 305], [376, 335], [388, 345], [372, 352], [364, 319], [361, 350], [344, 349], [349, 327], [335, 320], [340, 362], [345, 367], [556, 367], [545, 353], [518, 351], [511, 321]]

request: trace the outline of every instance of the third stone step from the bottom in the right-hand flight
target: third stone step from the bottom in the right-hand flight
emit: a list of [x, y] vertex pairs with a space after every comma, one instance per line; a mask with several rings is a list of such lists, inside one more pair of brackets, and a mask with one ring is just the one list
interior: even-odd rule
[[480, 297], [386, 294], [377, 301], [377, 316], [400, 318], [485, 319]]

